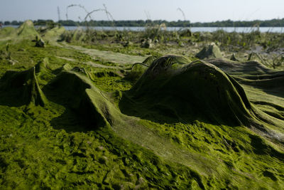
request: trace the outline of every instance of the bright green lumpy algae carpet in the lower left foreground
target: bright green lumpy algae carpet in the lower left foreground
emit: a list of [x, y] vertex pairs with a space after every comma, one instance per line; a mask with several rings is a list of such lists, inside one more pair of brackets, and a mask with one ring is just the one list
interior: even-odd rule
[[[43, 113], [44, 120], [48, 120], [48, 112]], [[31, 121], [33, 127], [28, 127]], [[109, 132], [68, 134], [65, 130], [53, 130], [43, 118], [26, 120], [21, 127], [9, 125], [11, 122], [1, 123], [4, 130], [1, 186], [13, 189], [190, 187], [182, 180], [175, 184], [170, 181], [179, 176], [191, 179], [193, 174], [180, 166], [170, 167], [153, 153], [121, 141]], [[16, 154], [9, 154], [10, 151]]]

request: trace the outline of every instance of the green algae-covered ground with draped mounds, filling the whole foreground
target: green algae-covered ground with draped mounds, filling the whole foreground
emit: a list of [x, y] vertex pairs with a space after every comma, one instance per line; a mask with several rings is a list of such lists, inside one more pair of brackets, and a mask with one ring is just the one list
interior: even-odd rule
[[283, 189], [283, 71], [76, 33], [0, 30], [1, 189]]

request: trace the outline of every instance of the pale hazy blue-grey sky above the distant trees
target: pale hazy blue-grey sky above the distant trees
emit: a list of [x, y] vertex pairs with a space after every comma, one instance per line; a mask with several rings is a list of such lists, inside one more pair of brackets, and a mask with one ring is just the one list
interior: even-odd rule
[[[26, 19], [53, 19], [58, 21], [58, 6], [62, 20], [66, 19], [66, 7], [81, 4], [88, 11], [107, 6], [115, 20], [183, 20], [191, 22], [284, 18], [283, 0], [0, 0], [0, 21], [24, 21]], [[84, 10], [68, 9], [72, 20], [84, 18]], [[107, 20], [103, 12], [92, 14], [94, 20]]]

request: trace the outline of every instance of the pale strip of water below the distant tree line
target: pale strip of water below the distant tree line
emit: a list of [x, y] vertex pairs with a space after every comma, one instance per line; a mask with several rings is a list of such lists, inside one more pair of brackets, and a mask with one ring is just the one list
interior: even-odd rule
[[[6, 27], [6, 26], [4, 26]], [[14, 28], [18, 28], [18, 26], [12, 26]], [[35, 26], [35, 28], [38, 28], [40, 26]], [[72, 31], [77, 29], [77, 26], [64, 26], [66, 28], [67, 31]], [[86, 29], [86, 26], [80, 26], [80, 28]], [[145, 28], [144, 27], [111, 27], [111, 26], [90, 26], [89, 28], [92, 29], [97, 29], [97, 30], [101, 30], [101, 31], [113, 31], [114, 29], [116, 29], [117, 31], [144, 31]], [[181, 29], [184, 29], [184, 27], [167, 27], [166, 30], [167, 31], [179, 31]], [[217, 30], [224, 30], [226, 32], [239, 32], [239, 33], [249, 33], [251, 31], [256, 31], [257, 28], [251, 28], [251, 27], [192, 27], [190, 28], [190, 30], [192, 32], [214, 32]], [[261, 32], [275, 32], [275, 33], [284, 33], [284, 28], [283, 27], [260, 27], [259, 31]]]

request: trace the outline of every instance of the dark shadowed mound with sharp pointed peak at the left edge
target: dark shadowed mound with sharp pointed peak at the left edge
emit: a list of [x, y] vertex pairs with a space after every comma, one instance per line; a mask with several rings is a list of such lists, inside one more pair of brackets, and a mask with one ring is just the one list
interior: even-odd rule
[[48, 103], [38, 84], [35, 67], [21, 72], [7, 71], [1, 78], [0, 91], [1, 104], [4, 105], [44, 106]]

